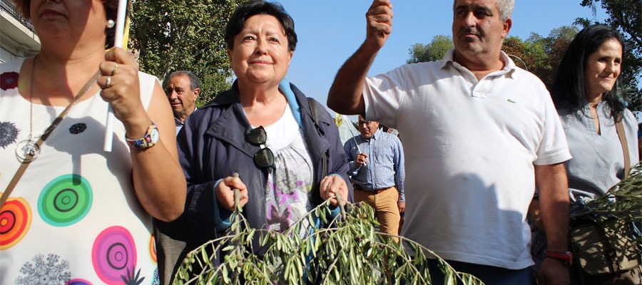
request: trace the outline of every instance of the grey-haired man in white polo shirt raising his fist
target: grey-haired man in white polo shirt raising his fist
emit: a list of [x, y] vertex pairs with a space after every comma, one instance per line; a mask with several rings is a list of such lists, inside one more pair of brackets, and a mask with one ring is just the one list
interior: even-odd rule
[[550, 251], [539, 284], [568, 284], [571, 155], [544, 84], [501, 52], [513, 6], [456, 0], [454, 49], [442, 61], [366, 78], [392, 31], [390, 0], [375, 0], [366, 39], [337, 73], [327, 105], [404, 134], [404, 237], [485, 284], [530, 284], [526, 212], [538, 187]]

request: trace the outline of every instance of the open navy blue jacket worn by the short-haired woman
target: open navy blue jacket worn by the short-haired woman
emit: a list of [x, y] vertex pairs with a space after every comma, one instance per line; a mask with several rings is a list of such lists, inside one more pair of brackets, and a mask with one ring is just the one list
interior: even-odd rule
[[[314, 203], [320, 204], [319, 182], [322, 179], [322, 154], [327, 155], [327, 174], [343, 177], [352, 201], [352, 185], [346, 173], [347, 160], [340, 142], [335, 121], [325, 108], [318, 110], [318, 125], [312, 120], [310, 104], [305, 95], [293, 84], [290, 88], [299, 106], [303, 133], [312, 157]], [[235, 82], [230, 90], [220, 93], [203, 108], [192, 113], [178, 134], [178, 158], [188, 182], [188, 196], [183, 222], [188, 223], [190, 243], [203, 244], [223, 234], [215, 227], [220, 219], [230, 214], [218, 207], [214, 185], [220, 179], [233, 176], [235, 172], [248, 187], [248, 204], [243, 215], [251, 227], [265, 228], [265, 185], [267, 169], [255, 165], [253, 155], [260, 150], [246, 139], [252, 127], [245, 118], [240, 104], [238, 86]]]

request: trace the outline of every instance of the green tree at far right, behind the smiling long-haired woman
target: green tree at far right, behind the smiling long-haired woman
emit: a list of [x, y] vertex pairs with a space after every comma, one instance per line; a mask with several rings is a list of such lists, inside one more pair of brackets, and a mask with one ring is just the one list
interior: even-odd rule
[[[620, 31], [625, 46], [621, 83], [628, 108], [642, 111], [642, 2], [640, 0], [582, 0], [581, 5], [596, 13], [597, 2], [608, 18], [603, 23]], [[576, 19], [576, 24], [591, 24], [588, 19]]]

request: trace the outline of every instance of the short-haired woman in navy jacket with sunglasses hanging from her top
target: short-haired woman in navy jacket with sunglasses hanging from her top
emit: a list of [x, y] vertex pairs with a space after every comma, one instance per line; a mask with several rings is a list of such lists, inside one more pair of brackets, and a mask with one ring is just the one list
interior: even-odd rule
[[248, 1], [228, 22], [225, 42], [237, 80], [178, 134], [188, 201], [175, 224], [188, 227], [188, 249], [224, 234], [233, 189], [251, 227], [279, 232], [326, 199], [352, 200], [334, 120], [312, 105], [315, 123], [308, 99], [284, 79], [297, 43], [292, 18], [280, 4]]

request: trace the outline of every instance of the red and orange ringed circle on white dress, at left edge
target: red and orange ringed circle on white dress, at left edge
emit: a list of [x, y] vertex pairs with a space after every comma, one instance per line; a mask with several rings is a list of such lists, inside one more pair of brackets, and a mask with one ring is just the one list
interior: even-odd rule
[[0, 211], [0, 250], [13, 247], [31, 226], [31, 207], [22, 198], [9, 198]]

